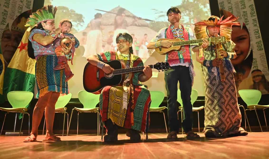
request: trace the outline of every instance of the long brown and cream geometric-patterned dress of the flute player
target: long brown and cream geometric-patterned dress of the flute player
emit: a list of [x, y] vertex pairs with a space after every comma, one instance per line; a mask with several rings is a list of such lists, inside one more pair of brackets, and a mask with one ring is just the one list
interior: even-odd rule
[[[233, 52], [235, 44], [230, 41], [222, 44], [227, 52]], [[205, 60], [216, 58], [215, 47], [208, 46], [204, 50]], [[212, 130], [215, 136], [228, 136], [244, 130], [240, 127], [241, 113], [237, 102], [237, 94], [234, 80], [234, 69], [230, 59], [223, 60], [225, 81], [221, 82], [218, 67], [206, 67], [202, 65], [205, 86], [205, 120], [204, 133]]]

